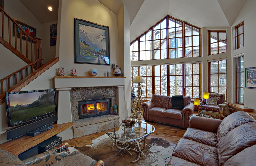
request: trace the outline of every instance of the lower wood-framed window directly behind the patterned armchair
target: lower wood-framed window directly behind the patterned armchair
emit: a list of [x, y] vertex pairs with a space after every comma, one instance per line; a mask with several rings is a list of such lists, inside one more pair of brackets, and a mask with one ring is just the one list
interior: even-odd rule
[[226, 63], [227, 60], [209, 62], [209, 91], [226, 94]]

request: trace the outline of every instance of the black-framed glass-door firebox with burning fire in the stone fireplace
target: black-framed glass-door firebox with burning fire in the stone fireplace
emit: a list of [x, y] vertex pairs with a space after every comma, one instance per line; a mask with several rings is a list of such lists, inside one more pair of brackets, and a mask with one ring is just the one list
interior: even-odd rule
[[110, 99], [92, 99], [78, 101], [79, 119], [110, 114]]

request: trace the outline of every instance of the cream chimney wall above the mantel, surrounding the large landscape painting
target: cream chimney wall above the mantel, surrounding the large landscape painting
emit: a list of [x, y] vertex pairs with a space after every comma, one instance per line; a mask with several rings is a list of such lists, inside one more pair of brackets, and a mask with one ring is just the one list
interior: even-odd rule
[[[59, 48], [57, 43], [56, 56], [59, 57], [59, 66], [65, 68], [65, 76], [70, 76], [71, 69], [77, 69], [78, 76], [90, 76], [89, 70], [96, 68], [97, 76], [113, 75], [111, 66], [95, 64], [75, 64], [74, 63], [74, 18], [90, 21], [96, 24], [109, 26], [110, 39], [110, 64], [121, 64], [118, 44], [117, 16], [97, 0], [60, 0], [58, 14], [58, 28], [60, 35]], [[123, 66], [119, 66], [123, 68]]]

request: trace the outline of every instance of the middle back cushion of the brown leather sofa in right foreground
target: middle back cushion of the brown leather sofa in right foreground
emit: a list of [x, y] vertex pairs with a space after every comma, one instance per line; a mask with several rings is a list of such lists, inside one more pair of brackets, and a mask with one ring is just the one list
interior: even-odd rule
[[255, 122], [234, 128], [218, 142], [219, 164], [222, 165], [233, 155], [254, 144], [256, 144]]

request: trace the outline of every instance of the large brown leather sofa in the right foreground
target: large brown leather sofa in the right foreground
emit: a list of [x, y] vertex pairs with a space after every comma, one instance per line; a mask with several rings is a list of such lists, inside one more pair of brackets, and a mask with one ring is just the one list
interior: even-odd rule
[[256, 120], [239, 111], [223, 120], [192, 116], [168, 166], [251, 166], [256, 158]]

